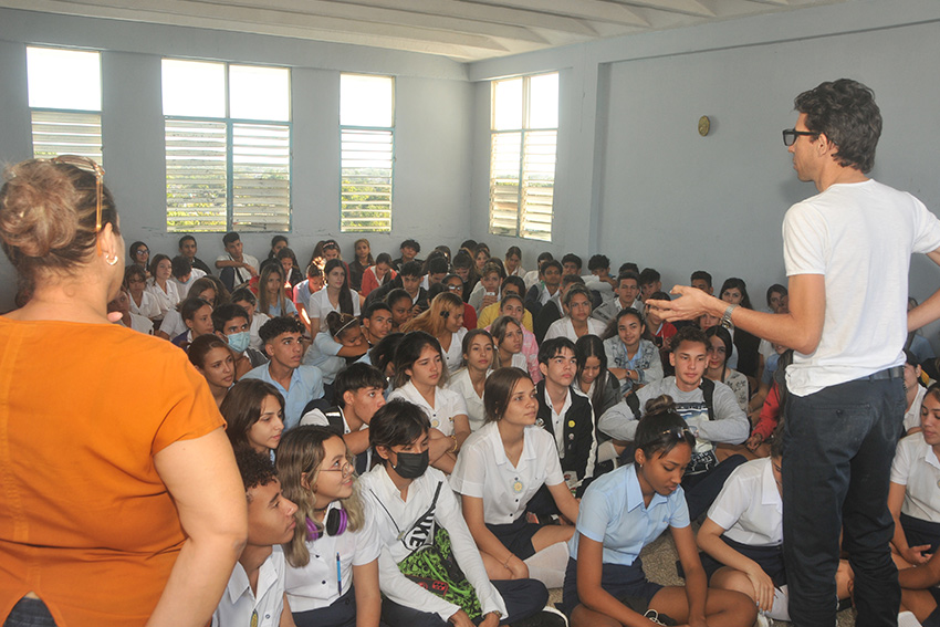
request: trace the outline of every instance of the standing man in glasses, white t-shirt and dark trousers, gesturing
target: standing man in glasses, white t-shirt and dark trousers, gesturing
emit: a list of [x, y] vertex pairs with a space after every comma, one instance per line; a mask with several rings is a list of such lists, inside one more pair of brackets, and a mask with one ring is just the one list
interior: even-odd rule
[[[702, 313], [795, 351], [786, 368], [784, 558], [800, 627], [836, 620], [839, 531], [855, 572], [859, 627], [897, 625], [888, 481], [905, 412], [905, 312], [912, 252], [940, 264], [940, 222], [909, 194], [869, 179], [881, 114], [868, 87], [842, 79], [796, 97], [783, 132], [802, 181], [818, 195], [783, 222], [790, 311], [729, 305], [701, 290], [657, 304], [668, 320]], [[932, 306], [928, 306], [928, 304]], [[940, 313], [940, 295], [911, 328]]]

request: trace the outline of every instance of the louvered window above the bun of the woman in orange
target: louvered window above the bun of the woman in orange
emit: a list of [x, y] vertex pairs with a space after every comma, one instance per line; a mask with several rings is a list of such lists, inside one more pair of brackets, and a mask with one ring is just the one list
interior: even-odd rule
[[102, 159], [101, 54], [27, 48], [33, 156]]

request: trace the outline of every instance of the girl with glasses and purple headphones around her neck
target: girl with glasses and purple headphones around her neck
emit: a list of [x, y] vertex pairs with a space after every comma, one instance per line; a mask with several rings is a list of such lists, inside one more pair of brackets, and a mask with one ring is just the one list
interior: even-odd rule
[[297, 504], [284, 544], [288, 600], [297, 627], [378, 627], [380, 548], [366, 524], [346, 445], [324, 427], [297, 427], [278, 449], [284, 495]]

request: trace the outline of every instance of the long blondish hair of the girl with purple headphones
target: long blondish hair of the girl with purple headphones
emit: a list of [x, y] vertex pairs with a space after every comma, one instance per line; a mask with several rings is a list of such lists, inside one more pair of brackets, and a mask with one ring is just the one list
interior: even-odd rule
[[[297, 505], [297, 512], [294, 514], [297, 522], [294, 536], [284, 544], [284, 555], [294, 568], [306, 566], [310, 562], [310, 550], [306, 546], [307, 520], [313, 522], [321, 535], [323, 534], [323, 525], [314, 520], [314, 509], [317, 503], [313, 487], [316, 485], [320, 467], [325, 456], [323, 442], [330, 438], [340, 438], [340, 436], [326, 427], [309, 425], [294, 427], [284, 431], [281, 446], [278, 447], [276, 466], [281, 490], [284, 497]], [[355, 463], [348, 451], [346, 459], [349, 463]], [[341, 499], [340, 502], [346, 510], [346, 531], [362, 529], [365, 514], [357, 479], [353, 481], [353, 493], [346, 499]]]

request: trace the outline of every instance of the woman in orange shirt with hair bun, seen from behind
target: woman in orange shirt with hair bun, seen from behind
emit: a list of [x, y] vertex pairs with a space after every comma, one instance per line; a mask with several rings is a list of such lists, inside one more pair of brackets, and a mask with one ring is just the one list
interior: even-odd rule
[[0, 619], [202, 626], [246, 540], [244, 489], [186, 354], [111, 324], [124, 240], [103, 174], [31, 159], [0, 189], [28, 286], [0, 317]]

